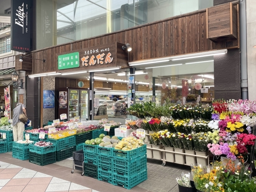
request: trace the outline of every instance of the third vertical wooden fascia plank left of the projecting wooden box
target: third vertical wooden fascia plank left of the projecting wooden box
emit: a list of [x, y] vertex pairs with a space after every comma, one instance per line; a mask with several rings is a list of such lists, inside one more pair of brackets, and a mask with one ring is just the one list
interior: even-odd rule
[[186, 18], [174, 19], [174, 55], [186, 53]]

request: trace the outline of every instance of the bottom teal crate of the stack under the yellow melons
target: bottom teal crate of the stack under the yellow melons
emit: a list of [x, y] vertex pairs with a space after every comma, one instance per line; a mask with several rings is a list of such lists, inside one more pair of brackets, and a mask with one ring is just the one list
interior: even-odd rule
[[147, 180], [147, 168], [145, 168], [141, 172], [131, 175], [130, 177], [113, 174], [112, 184], [119, 187], [131, 189], [145, 180]]

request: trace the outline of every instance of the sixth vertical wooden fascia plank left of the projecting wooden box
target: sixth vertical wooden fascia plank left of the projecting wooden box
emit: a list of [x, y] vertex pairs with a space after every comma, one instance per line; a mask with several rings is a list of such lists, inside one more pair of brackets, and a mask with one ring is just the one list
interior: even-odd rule
[[143, 27], [143, 59], [153, 57], [152, 25]]

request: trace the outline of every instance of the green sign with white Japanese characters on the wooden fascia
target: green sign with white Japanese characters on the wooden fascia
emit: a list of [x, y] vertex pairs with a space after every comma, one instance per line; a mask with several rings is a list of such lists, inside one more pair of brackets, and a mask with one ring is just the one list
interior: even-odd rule
[[71, 69], [79, 67], [79, 52], [58, 56], [58, 69]]

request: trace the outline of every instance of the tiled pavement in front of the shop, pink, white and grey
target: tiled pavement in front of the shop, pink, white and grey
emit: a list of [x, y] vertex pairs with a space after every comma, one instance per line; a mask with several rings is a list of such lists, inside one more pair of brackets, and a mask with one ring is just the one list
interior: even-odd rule
[[[73, 160], [38, 166], [12, 158], [11, 152], [0, 154], [0, 192], [178, 192], [176, 177], [189, 172], [190, 167], [148, 159], [148, 179], [131, 190], [97, 179], [71, 174]], [[35, 190], [36, 189], [36, 190]]]

